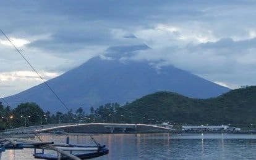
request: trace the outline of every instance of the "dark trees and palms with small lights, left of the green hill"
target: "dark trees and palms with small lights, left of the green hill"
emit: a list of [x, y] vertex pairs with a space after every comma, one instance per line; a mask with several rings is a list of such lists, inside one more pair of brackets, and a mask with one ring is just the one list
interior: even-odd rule
[[120, 110], [118, 103], [107, 103], [96, 109], [91, 107], [88, 114], [81, 107], [67, 113], [50, 113], [43, 111], [36, 103], [20, 103], [16, 108], [11, 108], [0, 102], [0, 129], [58, 123], [124, 122], [122, 116], [117, 115]]

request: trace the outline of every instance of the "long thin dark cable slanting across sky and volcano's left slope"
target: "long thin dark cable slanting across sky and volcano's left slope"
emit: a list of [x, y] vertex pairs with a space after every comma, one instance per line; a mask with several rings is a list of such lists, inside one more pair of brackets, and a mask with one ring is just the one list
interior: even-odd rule
[[24, 55], [20, 52], [20, 50], [14, 45], [14, 43], [6, 36], [6, 34], [4, 34], [4, 32], [2, 30], [0, 30], [1, 33], [6, 37], [6, 39], [12, 44], [12, 46], [15, 48], [15, 50], [17, 50], [17, 52], [19, 52], [19, 54], [21, 55], [21, 57], [28, 63], [28, 65], [30, 65], [30, 67], [32, 68], [32, 70], [38, 75], [38, 77], [43, 81], [43, 83], [49, 88], [49, 90], [51, 90], [51, 92], [53, 92], [53, 94], [55, 95], [55, 97], [59, 100], [59, 102], [61, 102], [61, 104], [69, 111], [69, 108], [67, 108], [67, 106], [65, 105], [64, 102], [62, 102], [61, 98], [59, 98], [59, 96], [54, 92], [53, 89], [51, 89], [51, 87], [49, 86], [49, 84], [45, 81], [45, 79], [43, 79], [41, 77], [41, 75], [38, 73], [38, 71], [35, 70], [35, 68], [31, 65], [30, 62], [28, 62], [27, 58], [24, 57]]

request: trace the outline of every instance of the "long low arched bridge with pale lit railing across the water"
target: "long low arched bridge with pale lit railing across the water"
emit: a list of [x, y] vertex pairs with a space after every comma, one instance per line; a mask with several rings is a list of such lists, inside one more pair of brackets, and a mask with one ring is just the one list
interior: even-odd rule
[[173, 129], [149, 124], [115, 124], [115, 123], [85, 123], [85, 124], [51, 124], [43, 126], [21, 127], [4, 130], [2, 134], [33, 134], [63, 130], [67, 133], [114, 133], [114, 132], [170, 132]]

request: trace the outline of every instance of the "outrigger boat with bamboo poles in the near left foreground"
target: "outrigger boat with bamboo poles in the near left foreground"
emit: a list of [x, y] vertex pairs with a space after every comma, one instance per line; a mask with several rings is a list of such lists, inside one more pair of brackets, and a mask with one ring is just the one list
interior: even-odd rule
[[[95, 142], [94, 139], [93, 142]], [[67, 137], [67, 143], [37, 142], [17, 138], [2, 138], [0, 139], [0, 143], [0, 159], [1, 153], [4, 152], [5, 150], [23, 150], [25, 148], [34, 148], [33, 156], [34, 158], [37, 159], [78, 160], [97, 158], [105, 154], [108, 154], [108, 149], [105, 145], [100, 145], [99, 143], [96, 142], [95, 146], [72, 145], [69, 144], [69, 137]], [[37, 152], [38, 150], [41, 150], [41, 152]], [[57, 153], [48, 154], [45, 153], [45, 150], [53, 150], [56, 151]], [[74, 151], [75, 153], [73, 153]]]

